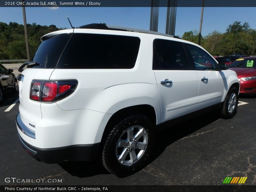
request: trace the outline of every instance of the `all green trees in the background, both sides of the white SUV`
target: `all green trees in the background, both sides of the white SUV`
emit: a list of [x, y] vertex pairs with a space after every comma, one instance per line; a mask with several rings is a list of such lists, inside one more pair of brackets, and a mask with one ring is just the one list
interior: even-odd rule
[[[27, 24], [29, 55], [34, 55], [40, 38], [52, 31], [60, 30], [55, 25], [41, 26], [36, 23]], [[198, 43], [198, 31], [188, 31], [182, 39]], [[231, 55], [241, 52], [244, 55], [256, 54], [256, 30], [248, 22], [241, 24], [235, 21], [228, 25], [225, 33], [212, 31], [201, 37], [201, 45], [212, 55]], [[15, 22], [0, 22], [0, 60], [27, 59], [24, 26]]]

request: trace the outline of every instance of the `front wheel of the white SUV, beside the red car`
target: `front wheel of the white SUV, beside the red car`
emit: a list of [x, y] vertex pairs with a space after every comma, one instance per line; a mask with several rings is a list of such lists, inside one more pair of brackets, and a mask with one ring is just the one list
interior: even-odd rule
[[[233, 98], [233, 99], [232, 99]], [[232, 103], [230, 103], [232, 102]], [[230, 119], [236, 115], [238, 104], [238, 90], [231, 87], [221, 108], [220, 116], [223, 119]]]

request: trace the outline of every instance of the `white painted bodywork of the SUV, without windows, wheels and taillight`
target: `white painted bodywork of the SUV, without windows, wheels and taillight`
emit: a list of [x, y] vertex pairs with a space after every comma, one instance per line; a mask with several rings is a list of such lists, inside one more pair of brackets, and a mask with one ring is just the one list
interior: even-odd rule
[[[20, 117], [36, 139], [20, 131], [20, 137], [37, 148], [59, 148], [95, 144], [101, 141], [106, 125], [117, 111], [136, 105], [149, 105], [155, 110], [156, 125], [225, 100], [230, 86], [239, 83], [236, 73], [225, 71], [152, 70], [153, 41], [166, 39], [191, 42], [144, 33], [68, 29], [53, 32], [92, 33], [140, 38], [140, 49], [132, 69], [43, 69], [28, 68], [20, 82]], [[201, 47], [200, 47], [201, 48]], [[208, 84], [201, 81], [208, 78]], [[76, 90], [54, 103], [29, 99], [32, 80], [77, 80]], [[171, 87], [160, 84], [172, 80]], [[29, 123], [35, 125], [29, 127]]]

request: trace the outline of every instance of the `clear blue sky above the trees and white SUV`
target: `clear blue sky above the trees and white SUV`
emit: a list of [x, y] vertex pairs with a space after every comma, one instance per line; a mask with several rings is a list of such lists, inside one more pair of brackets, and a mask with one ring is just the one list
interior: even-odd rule
[[[199, 31], [201, 7], [177, 7], [175, 35]], [[26, 7], [27, 23], [71, 28], [90, 23], [107, 23], [149, 30], [150, 7]], [[214, 30], [224, 33], [234, 21], [248, 22], [256, 29], [256, 7], [204, 7], [202, 36]], [[167, 8], [159, 8], [158, 32], [165, 33]], [[0, 22], [23, 24], [21, 7], [0, 7]]]

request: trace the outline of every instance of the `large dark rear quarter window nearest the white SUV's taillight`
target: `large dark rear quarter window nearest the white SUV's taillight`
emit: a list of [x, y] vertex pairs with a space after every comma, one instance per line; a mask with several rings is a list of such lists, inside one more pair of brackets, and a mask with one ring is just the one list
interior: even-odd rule
[[75, 33], [57, 68], [131, 69], [139, 47], [139, 37]]

